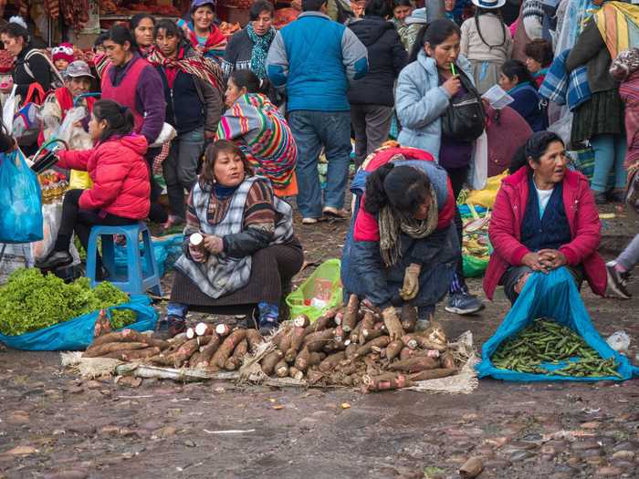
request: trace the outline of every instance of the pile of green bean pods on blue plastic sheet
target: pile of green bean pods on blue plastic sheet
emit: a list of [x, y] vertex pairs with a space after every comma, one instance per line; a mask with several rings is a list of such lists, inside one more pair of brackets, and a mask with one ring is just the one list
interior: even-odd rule
[[[569, 361], [559, 370], [550, 371], [539, 367], [542, 362], [559, 364], [560, 361], [573, 357], [579, 359]], [[501, 370], [579, 378], [621, 378], [616, 371], [618, 364], [614, 358], [602, 359], [597, 351], [588, 346], [571, 328], [544, 318], [535, 319], [517, 337], [502, 342], [492, 361], [495, 367]]]

